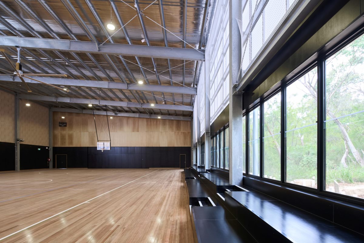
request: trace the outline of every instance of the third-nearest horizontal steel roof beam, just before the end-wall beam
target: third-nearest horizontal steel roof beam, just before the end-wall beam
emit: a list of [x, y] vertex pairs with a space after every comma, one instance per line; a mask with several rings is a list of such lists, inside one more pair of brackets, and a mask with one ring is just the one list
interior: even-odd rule
[[146, 103], [136, 103], [136, 102], [124, 102], [124, 101], [107, 101], [102, 99], [80, 99], [80, 98], [70, 98], [70, 97], [52, 97], [52, 96], [42, 96], [42, 95], [19, 95], [20, 99], [28, 99], [34, 101], [51, 101], [51, 102], [64, 102], [64, 103], [78, 103], [78, 104], [92, 104], [92, 105], [110, 105], [110, 106], [123, 106], [123, 107], [135, 107], [135, 108], [146, 108], [146, 109], [163, 109], [163, 110], [182, 110], [182, 111], [193, 111], [192, 106], [182, 106], [182, 105], [165, 105], [165, 104], [155, 104], [151, 106]]

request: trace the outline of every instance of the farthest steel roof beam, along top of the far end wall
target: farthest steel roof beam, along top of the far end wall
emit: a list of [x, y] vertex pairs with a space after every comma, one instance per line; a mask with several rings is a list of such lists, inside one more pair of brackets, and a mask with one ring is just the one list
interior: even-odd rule
[[[52, 107], [51, 109], [52, 111], [56, 112], [92, 114], [92, 110], [77, 110], [77, 109], [57, 108], [57, 107]], [[97, 115], [106, 115], [106, 111], [101, 111], [101, 110], [94, 110], [94, 113]], [[191, 121], [191, 117], [180, 117], [175, 115], [148, 115], [148, 114], [129, 113], [129, 112], [116, 112], [114, 114], [110, 114], [110, 112], [108, 112], [108, 115], [113, 115], [113, 116], [115, 115], [119, 117], [138, 117], [138, 118], [167, 119], [176, 121]]]

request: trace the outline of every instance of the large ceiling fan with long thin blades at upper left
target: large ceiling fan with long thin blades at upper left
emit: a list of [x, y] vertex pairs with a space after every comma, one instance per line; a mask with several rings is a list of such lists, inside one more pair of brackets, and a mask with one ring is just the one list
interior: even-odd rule
[[48, 86], [54, 87], [54, 88], [62, 90], [62, 91], [70, 92], [66, 88], [62, 89], [60, 87], [51, 85], [49, 83], [45, 83], [45, 82], [39, 81], [39, 80], [37, 80], [35, 78], [29, 77], [29, 76], [38, 76], [38, 77], [66, 77], [67, 78], [67, 74], [24, 74], [23, 71], [22, 71], [22, 68], [21, 68], [21, 64], [20, 64], [20, 50], [21, 50], [21, 48], [19, 46], [15, 46], [15, 47], [16, 47], [16, 50], [18, 52], [18, 56], [17, 56], [18, 59], [17, 59], [15, 67], [14, 67], [13, 63], [11, 62], [11, 60], [9, 59], [9, 57], [5, 54], [5, 50], [0, 48], [1, 55], [5, 57], [5, 59], [8, 61], [8, 63], [10, 64], [10, 66], [14, 70], [14, 72], [12, 72], [12, 74], [0, 74], [0, 75], [15, 75], [15, 76], [19, 77], [21, 82], [23, 82], [25, 87], [27, 87], [28, 92], [32, 92], [32, 90], [29, 88], [28, 84], [24, 81], [24, 78], [28, 78], [28, 79], [31, 79], [33, 81], [43, 83], [44, 85], [48, 85]]

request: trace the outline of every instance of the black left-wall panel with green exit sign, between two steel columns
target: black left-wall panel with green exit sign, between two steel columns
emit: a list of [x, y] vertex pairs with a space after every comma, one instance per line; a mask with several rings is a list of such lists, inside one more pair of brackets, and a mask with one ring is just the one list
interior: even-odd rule
[[[13, 156], [15, 156], [15, 149]], [[20, 144], [20, 169], [44, 169], [48, 167], [49, 149], [46, 146]]]

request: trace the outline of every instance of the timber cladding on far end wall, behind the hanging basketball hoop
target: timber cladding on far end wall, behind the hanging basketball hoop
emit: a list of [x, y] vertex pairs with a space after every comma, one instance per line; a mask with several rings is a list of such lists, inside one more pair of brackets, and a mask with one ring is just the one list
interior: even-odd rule
[[[61, 117], [65, 118], [62, 119]], [[110, 119], [112, 147], [191, 146], [191, 122], [165, 119], [117, 117]], [[99, 140], [108, 140], [106, 115], [96, 115]], [[59, 122], [67, 122], [60, 127]], [[54, 147], [96, 147], [94, 116], [78, 113], [53, 113]]]

